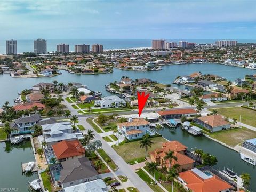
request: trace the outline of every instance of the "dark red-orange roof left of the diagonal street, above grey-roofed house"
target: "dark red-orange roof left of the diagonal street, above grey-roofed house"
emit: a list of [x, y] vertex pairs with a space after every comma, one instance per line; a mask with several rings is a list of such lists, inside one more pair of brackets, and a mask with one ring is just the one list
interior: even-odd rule
[[80, 156], [85, 153], [85, 149], [78, 140], [61, 141], [52, 145], [57, 159]]

